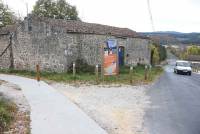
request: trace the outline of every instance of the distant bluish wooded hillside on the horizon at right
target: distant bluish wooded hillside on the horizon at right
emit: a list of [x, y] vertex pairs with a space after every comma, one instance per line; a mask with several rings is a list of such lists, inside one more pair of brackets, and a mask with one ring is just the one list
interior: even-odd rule
[[142, 35], [149, 36], [160, 43], [165, 44], [196, 44], [200, 45], [200, 33], [180, 33], [174, 31], [144, 32]]

